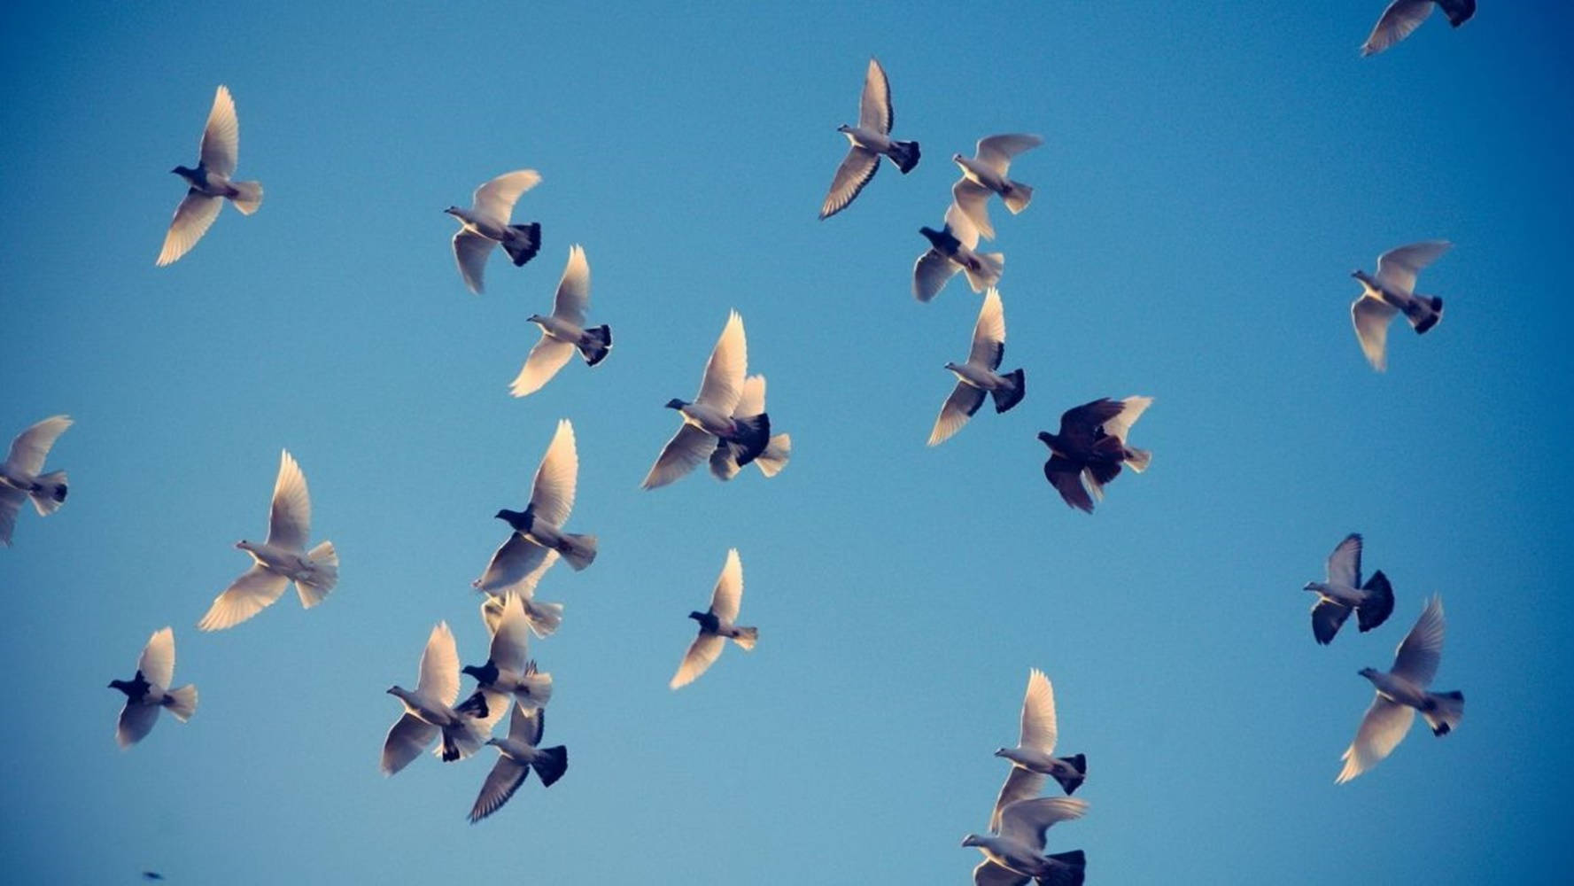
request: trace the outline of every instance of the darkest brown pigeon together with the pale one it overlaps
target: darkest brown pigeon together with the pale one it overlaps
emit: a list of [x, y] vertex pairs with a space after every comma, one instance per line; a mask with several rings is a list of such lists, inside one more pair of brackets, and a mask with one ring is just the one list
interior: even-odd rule
[[1125, 445], [1125, 436], [1152, 403], [1152, 397], [1100, 398], [1061, 414], [1059, 434], [1039, 431], [1050, 447], [1044, 475], [1067, 505], [1092, 513], [1094, 499], [1103, 499], [1103, 486], [1122, 464], [1138, 474], [1147, 471], [1154, 453]]

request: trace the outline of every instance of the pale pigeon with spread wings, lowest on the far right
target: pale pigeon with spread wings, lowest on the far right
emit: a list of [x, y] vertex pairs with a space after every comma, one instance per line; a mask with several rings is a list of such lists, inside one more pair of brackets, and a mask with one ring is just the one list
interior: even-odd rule
[[1429, 692], [1437, 664], [1443, 658], [1443, 601], [1428, 601], [1415, 626], [1406, 634], [1393, 658], [1393, 670], [1384, 674], [1363, 667], [1360, 675], [1377, 688], [1373, 707], [1366, 708], [1355, 741], [1344, 751], [1338, 784], [1344, 784], [1387, 757], [1410, 732], [1415, 711], [1421, 711], [1432, 735], [1448, 735], [1465, 713], [1464, 692]]

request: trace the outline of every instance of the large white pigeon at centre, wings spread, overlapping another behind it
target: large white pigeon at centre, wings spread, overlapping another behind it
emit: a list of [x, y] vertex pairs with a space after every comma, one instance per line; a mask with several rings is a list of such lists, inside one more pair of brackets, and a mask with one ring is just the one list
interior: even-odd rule
[[641, 485], [645, 489], [666, 486], [710, 458], [716, 441], [727, 445], [738, 467], [759, 458], [771, 441], [770, 415], [735, 415], [743, 398], [743, 382], [749, 367], [749, 343], [743, 335], [738, 312], [727, 316], [727, 326], [705, 362], [699, 395], [693, 403], [669, 400], [667, 409], [683, 414], [683, 426], [667, 441]]

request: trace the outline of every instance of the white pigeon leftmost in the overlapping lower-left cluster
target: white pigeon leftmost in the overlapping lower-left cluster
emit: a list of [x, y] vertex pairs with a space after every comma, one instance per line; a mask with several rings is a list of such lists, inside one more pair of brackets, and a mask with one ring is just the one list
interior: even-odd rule
[[436, 754], [444, 762], [469, 757], [480, 751], [493, 724], [504, 713], [490, 710], [477, 696], [460, 708], [453, 707], [453, 700], [460, 697], [460, 653], [453, 648], [453, 633], [447, 622], [438, 622], [427, 637], [416, 689], [389, 686], [387, 692], [405, 703], [405, 713], [382, 743], [386, 776], [408, 766], [438, 735], [442, 735], [442, 743]]

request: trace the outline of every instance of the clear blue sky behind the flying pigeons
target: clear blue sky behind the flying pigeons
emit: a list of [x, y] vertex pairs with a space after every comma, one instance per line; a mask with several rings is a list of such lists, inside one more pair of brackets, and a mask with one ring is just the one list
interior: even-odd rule
[[[1162, 8], [1160, 8], [1162, 6]], [[1390, 52], [1384, 0], [637, 13], [579, 5], [22, 6], [0, 33], [0, 436], [66, 412], [68, 505], [0, 551], [0, 870], [121, 883], [966, 883], [1029, 667], [1086, 752], [1089, 883], [1552, 883], [1566, 873], [1571, 519], [1566, 250], [1574, 65], [1563, 3], [1484, 2]], [[815, 220], [870, 55], [918, 168]], [[214, 88], [235, 94], [252, 217], [154, 268]], [[926, 449], [979, 299], [913, 260], [985, 134], [1015, 167], [1007, 368], [1028, 395]], [[545, 245], [453, 268], [483, 179], [532, 167]], [[1355, 268], [1445, 238], [1447, 299], [1390, 371], [1350, 332]], [[573, 242], [615, 334], [518, 401]], [[727, 310], [795, 441], [774, 480], [641, 493]], [[1157, 398], [1155, 452], [1092, 516], [1044, 482], [1062, 409]], [[485, 658], [469, 581], [568, 417], [570, 529], [601, 537], [534, 645], [557, 680], [535, 779], [464, 814], [491, 751], [378, 752], [431, 625]], [[198, 634], [301, 461], [338, 590]], [[1393, 618], [1311, 639], [1324, 557], [1366, 535]], [[666, 681], [727, 548], [754, 653]], [[1339, 752], [1423, 600], [1442, 593], [1420, 725], [1354, 784]], [[154, 629], [201, 689], [129, 752], [112, 732]], [[466, 686], [469, 680], [466, 680]]]

